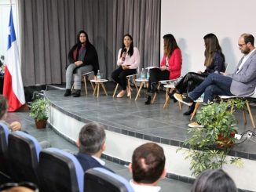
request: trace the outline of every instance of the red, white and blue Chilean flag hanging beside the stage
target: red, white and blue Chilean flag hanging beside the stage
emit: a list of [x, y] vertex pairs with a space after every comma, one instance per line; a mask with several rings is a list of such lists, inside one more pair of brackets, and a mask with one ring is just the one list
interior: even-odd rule
[[20, 72], [19, 50], [13, 25], [12, 7], [9, 13], [9, 35], [3, 95], [9, 102], [8, 111], [15, 111], [25, 103], [24, 88]]

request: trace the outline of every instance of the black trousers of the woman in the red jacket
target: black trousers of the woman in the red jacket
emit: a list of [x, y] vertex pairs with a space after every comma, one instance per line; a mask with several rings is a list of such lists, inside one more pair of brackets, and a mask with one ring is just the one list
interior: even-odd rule
[[161, 71], [159, 68], [152, 68], [149, 71], [149, 79], [148, 79], [148, 92], [151, 92], [151, 85], [152, 83], [157, 83], [163, 80], [169, 80], [170, 71], [164, 70]]

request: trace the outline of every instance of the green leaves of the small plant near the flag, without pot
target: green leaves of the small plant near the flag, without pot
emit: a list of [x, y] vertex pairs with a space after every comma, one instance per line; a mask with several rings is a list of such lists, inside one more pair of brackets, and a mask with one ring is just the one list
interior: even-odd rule
[[30, 116], [36, 121], [47, 120], [49, 117], [49, 101], [38, 98], [31, 104]]

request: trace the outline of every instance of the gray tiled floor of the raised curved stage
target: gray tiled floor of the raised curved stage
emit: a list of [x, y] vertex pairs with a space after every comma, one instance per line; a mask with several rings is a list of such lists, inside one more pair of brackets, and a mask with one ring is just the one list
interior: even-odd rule
[[[64, 97], [64, 90], [46, 91], [46, 96], [56, 107], [68, 111], [68, 114], [82, 121], [97, 121], [108, 126], [108, 130], [121, 132], [129, 136], [141, 139], [152, 140], [158, 143], [166, 143], [174, 146], [181, 146], [187, 138], [187, 129], [190, 116], [184, 116], [179, 110], [177, 103], [170, 101], [169, 107], [163, 109], [165, 92], [159, 92], [154, 104], [144, 105], [145, 89], [137, 101], [136, 89], [133, 88], [133, 98], [113, 98], [114, 85], [112, 82], [106, 85], [108, 96], [101, 92], [99, 98], [93, 96], [89, 90], [88, 96], [82, 92], [82, 96], [75, 98]], [[251, 107], [252, 113], [256, 114], [256, 107]], [[187, 106], [183, 106], [187, 110]], [[243, 125], [242, 111], [236, 111], [238, 132], [254, 130], [247, 114], [247, 125]], [[255, 130], [254, 130], [255, 132]], [[241, 158], [256, 160], [256, 147], [253, 141], [247, 140], [233, 147], [232, 155]]]

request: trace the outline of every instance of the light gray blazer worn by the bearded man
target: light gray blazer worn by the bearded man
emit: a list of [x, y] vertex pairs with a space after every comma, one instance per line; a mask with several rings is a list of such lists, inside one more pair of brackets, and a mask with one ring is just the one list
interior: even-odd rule
[[[238, 63], [237, 69], [242, 60], [243, 58]], [[254, 92], [256, 86], [256, 51], [251, 54], [237, 74], [228, 74], [228, 76], [232, 78], [230, 92], [233, 95], [240, 96]]]

